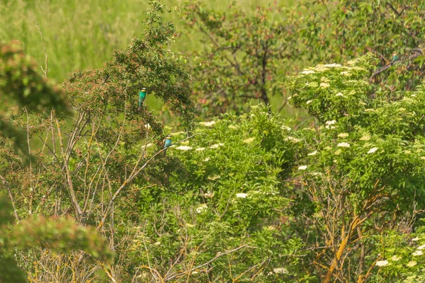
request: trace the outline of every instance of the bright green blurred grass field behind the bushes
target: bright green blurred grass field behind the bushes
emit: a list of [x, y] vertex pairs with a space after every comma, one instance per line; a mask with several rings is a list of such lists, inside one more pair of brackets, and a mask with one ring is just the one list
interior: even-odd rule
[[[218, 10], [226, 10], [228, 1], [202, 0]], [[277, 4], [292, 5], [296, 0]], [[183, 0], [164, 0], [169, 7], [185, 5]], [[273, 0], [237, 0], [237, 8], [252, 13], [257, 6], [273, 6]], [[147, 0], [0, 0], [0, 40], [20, 40], [26, 54], [45, 65], [45, 54], [36, 22], [40, 25], [48, 55], [48, 76], [62, 83], [69, 72], [98, 68], [111, 59], [113, 50], [129, 45], [142, 31], [142, 21], [149, 8]], [[173, 49], [188, 52], [200, 47], [199, 39], [183, 28], [181, 12], [167, 13], [166, 19], [176, 23], [181, 37]], [[41, 71], [41, 69], [40, 69]], [[150, 101], [149, 101], [150, 100]], [[158, 110], [161, 103], [154, 97], [148, 103]], [[274, 100], [274, 101], [273, 101]], [[272, 98], [278, 108], [281, 98]], [[292, 113], [285, 113], [292, 116]]]

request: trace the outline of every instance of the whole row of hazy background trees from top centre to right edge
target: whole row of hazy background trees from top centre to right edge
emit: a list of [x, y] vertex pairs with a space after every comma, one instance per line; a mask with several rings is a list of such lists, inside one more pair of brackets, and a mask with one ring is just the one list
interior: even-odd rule
[[218, 12], [191, 4], [185, 21], [205, 45], [192, 55], [199, 107], [208, 115], [210, 105], [217, 113], [246, 110], [252, 99], [280, 104], [283, 82], [302, 67], [367, 52], [379, 62], [369, 75], [368, 96], [412, 91], [424, 75], [424, 8], [423, 1], [299, 1], [295, 8], [258, 8], [251, 16], [232, 6]]

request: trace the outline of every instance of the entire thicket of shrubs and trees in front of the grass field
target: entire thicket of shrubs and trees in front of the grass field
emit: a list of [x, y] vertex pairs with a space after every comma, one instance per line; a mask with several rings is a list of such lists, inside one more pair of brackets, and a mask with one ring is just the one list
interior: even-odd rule
[[1, 42], [0, 282], [425, 282], [424, 4], [190, 4], [192, 58], [150, 5], [61, 88]]

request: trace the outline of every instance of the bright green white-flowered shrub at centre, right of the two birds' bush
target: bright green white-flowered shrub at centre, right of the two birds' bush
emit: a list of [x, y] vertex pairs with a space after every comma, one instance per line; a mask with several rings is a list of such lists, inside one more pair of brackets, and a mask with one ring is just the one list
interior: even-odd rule
[[201, 122], [196, 134], [169, 149], [184, 168], [170, 187], [137, 200], [142, 225], [130, 249], [140, 282], [292, 278], [302, 243], [286, 223], [285, 180], [300, 144], [262, 106]]

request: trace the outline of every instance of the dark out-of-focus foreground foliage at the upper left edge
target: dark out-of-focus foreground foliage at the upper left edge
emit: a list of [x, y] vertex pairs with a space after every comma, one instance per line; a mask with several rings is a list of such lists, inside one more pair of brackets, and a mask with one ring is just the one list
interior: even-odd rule
[[[40, 76], [33, 59], [23, 54], [18, 42], [0, 42], [0, 145], [13, 146], [28, 154], [23, 129], [14, 117], [26, 111], [45, 114], [55, 108], [60, 115], [68, 115], [64, 93]], [[19, 106], [17, 106], [19, 105]]]

